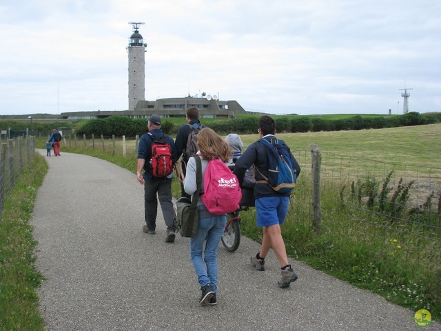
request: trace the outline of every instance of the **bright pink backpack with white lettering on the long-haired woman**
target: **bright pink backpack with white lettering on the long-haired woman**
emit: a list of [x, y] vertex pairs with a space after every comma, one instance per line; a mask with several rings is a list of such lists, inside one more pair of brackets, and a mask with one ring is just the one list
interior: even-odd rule
[[227, 214], [239, 209], [242, 199], [239, 181], [232, 170], [220, 159], [210, 160], [204, 174], [202, 202], [215, 215]]

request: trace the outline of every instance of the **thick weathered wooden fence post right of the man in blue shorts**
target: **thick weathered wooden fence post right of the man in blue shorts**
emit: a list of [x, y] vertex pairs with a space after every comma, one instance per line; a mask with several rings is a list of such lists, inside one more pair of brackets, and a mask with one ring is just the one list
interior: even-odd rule
[[312, 225], [320, 232], [320, 166], [322, 156], [318, 145], [311, 145], [311, 188], [312, 188]]

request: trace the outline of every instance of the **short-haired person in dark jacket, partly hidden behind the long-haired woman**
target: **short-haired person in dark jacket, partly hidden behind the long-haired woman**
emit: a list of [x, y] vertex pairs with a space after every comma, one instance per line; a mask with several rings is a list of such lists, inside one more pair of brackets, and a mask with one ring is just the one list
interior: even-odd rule
[[[187, 119], [187, 124], [183, 124], [180, 128], [178, 128], [178, 132], [176, 133], [176, 139], [174, 139], [174, 144], [176, 146], [176, 151], [178, 153], [177, 154], [178, 159], [182, 155], [181, 162], [184, 163], [182, 166], [184, 177], [185, 177], [185, 169], [187, 168], [188, 159], [193, 156], [193, 155], [187, 155], [185, 153], [188, 136], [192, 132], [192, 130], [194, 130], [192, 126], [194, 128], [199, 128], [199, 130], [201, 128], [205, 128], [205, 126], [203, 126], [203, 124], [199, 121], [199, 109], [197, 107], [194, 106], [189, 107], [187, 109], [187, 114], [185, 114], [185, 119]], [[181, 197], [189, 198], [189, 195], [184, 190], [183, 183], [181, 183]]]

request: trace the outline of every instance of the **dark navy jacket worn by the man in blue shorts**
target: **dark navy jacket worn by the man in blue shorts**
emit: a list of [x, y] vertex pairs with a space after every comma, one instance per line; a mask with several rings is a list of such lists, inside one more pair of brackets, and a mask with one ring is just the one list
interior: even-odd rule
[[[270, 141], [271, 137], [274, 136], [268, 135], [265, 136], [264, 139]], [[287, 146], [285, 141], [282, 141], [280, 139], [279, 141], [283, 143], [283, 145], [285, 145], [289, 150], [289, 147]], [[291, 163], [293, 165], [294, 170], [296, 170], [296, 174], [298, 177], [298, 175], [300, 174], [300, 165], [298, 165], [296, 159], [294, 158], [294, 155], [291, 153], [291, 150], [289, 150], [289, 154], [291, 155]], [[245, 152], [243, 152], [242, 156], [237, 159], [236, 165], [234, 166], [234, 174], [236, 174], [240, 186], [242, 186], [243, 177], [245, 176], [245, 171], [253, 164], [260, 172], [262, 172], [262, 174], [265, 177], [268, 176], [269, 164], [268, 164], [267, 147], [263, 145], [263, 143], [259, 143], [258, 141], [252, 143], [245, 150]], [[257, 171], [255, 178], [256, 181], [264, 180], [264, 178]], [[280, 197], [280, 196], [289, 197], [290, 194], [291, 193], [276, 192], [267, 183], [256, 183], [256, 186], [254, 187], [254, 199], [258, 199], [260, 197]]]

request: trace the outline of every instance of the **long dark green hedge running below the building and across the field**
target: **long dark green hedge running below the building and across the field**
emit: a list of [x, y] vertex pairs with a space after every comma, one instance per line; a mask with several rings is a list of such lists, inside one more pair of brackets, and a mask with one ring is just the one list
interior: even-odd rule
[[[202, 120], [203, 122], [203, 120]], [[294, 118], [276, 117], [277, 132], [319, 132], [319, 131], [340, 131], [340, 130], [362, 130], [396, 128], [400, 126], [419, 126], [423, 124], [440, 123], [441, 113], [419, 114], [409, 112], [408, 114], [396, 117], [361, 117], [354, 116], [348, 119], [325, 120], [316, 117], [298, 116]], [[181, 124], [174, 124], [171, 121], [163, 120], [163, 131], [167, 134], [176, 134]], [[228, 134], [256, 133], [258, 129], [258, 118], [249, 117], [245, 119], [219, 119], [210, 121], [209, 127], [216, 132]], [[95, 119], [88, 121], [76, 130], [76, 134], [101, 135], [105, 137], [125, 135], [135, 137], [136, 134], [143, 134], [147, 130], [145, 119], [130, 119], [128, 117], [108, 117], [107, 119]]]

